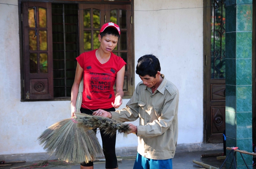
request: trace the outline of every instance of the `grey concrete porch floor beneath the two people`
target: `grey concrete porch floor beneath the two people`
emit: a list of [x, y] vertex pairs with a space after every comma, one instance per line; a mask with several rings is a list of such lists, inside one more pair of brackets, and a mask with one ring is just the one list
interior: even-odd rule
[[[217, 160], [215, 157], [208, 157], [208, 158], [201, 158], [201, 155], [209, 155], [215, 153], [222, 153], [221, 150], [209, 150], [209, 151], [194, 151], [194, 152], [176, 152], [175, 157], [173, 158], [173, 169], [202, 169], [202, 166], [199, 166], [193, 163], [193, 160], [203, 162], [205, 164], [209, 164], [211, 166], [220, 167], [224, 162], [224, 159]], [[134, 156], [127, 156], [127, 157], [118, 157], [122, 158], [123, 160], [119, 162], [119, 169], [132, 169], [134, 165]], [[38, 161], [31, 161], [26, 163], [13, 163], [12, 166], [0, 167], [1, 169], [15, 169], [16, 167], [20, 167], [18, 169], [25, 169], [29, 167], [25, 167], [25, 165], [30, 165], [33, 163], [38, 163]], [[80, 169], [79, 164], [68, 165], [68, 166], [48, 166], [47, 169]], [[94, 163], [94, 169], [105, 169], [105, 162], [104, 161], [96, 161]], [[225, 164], [222, 167], [225, 169]]]

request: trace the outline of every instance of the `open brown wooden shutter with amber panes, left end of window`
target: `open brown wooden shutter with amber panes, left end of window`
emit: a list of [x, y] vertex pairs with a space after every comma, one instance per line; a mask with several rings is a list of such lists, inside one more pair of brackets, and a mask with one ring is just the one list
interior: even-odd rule
[[24, 99], [53, 99], [50, 3], [23, 3]]

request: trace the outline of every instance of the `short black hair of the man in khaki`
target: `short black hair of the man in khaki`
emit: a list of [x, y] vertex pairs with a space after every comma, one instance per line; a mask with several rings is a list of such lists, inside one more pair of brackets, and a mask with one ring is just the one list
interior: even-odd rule
[[161, 71], [160, 62], [156, 56], [147, 54], [138, 59], [136, 73], [140, 76], [156, 77], [157, 71]]

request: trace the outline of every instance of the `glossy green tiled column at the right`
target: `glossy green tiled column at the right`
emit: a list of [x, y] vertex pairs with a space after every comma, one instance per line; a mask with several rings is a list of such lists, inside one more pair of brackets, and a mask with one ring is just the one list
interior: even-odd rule
[[[252, 152], [252, 3], [226, 0], [226, 146], [247, 152]], [[252, 156], [242, 155], [252, 169]], [[247, 169], [240, 153], [235, 159], [237, 169]], [[226, 168], [235, 168], [232, 160], [230, 154]]]

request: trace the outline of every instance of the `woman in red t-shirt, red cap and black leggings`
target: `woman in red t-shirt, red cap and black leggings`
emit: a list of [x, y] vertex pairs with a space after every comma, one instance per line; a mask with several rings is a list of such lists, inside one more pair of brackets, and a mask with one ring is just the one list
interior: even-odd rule
[[[92, 114], [93, 111], [104, 109], [115, 111], [122, 104], [125, 61], [112, 53], [120, 37], [120, 28], [114, 23], [105, 23], [98, 35], [99, 49], [84, 52], [77, 59], [76, 76], [71, 89], [71, 117], [75, 116], [76, 99], [79, 83], [84, 77], [81, 113]], [[113, 85], [116, 83], [116, 95]], [[110, 137], [103, 134], [102, 148], [106, 158], [106, 169], [117, 169], [115, 144], [116, 135]], [[80, 169], [93, 169], [93, 161], [81, 163]]]

